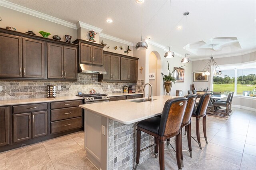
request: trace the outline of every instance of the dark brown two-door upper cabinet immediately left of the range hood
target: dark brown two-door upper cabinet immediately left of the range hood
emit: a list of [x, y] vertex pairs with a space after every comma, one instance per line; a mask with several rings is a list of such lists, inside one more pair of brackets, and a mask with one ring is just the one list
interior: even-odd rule
[[77, 48], [47, 43], [47, 78], [77, 79]]

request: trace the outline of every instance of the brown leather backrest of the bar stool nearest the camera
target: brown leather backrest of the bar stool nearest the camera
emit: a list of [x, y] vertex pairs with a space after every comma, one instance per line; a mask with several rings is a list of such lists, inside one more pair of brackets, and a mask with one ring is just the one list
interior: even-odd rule
[[180, 129], [187, 102], [186, 97], [177, 97], [166, 101], [160, 121], [160, 136], [172, 134]]

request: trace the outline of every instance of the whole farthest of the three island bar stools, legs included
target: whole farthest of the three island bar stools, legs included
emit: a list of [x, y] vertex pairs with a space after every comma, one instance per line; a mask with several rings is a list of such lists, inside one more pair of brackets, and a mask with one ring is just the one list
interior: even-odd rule
[[193, 113], [192, 113], [192, 117], [196, 118], [196, 138], [197, 138], [197, 140], [193, 136], [191, 136], [191, 137], [194, 140], [196, 140], [196, 142], [198, 142], [200, 149], [202, 149], [201, 142], [200, 142], [200, 132], [199, 132], [199, 123], [200, 123], [201, 117], [203, 118], [204, 139], [205, 139], [206, 143], [208, 143], [207, 137], [206, 137], [206, 109], [208, 107], [211, 95], [212, 95], [212, 93], [210, 93], [210, 92], [204, 93], [204, 95], [202, 95], [202, 97], [200, 97], [199, 103], [198, 103], [197, 107], [194, 108]]

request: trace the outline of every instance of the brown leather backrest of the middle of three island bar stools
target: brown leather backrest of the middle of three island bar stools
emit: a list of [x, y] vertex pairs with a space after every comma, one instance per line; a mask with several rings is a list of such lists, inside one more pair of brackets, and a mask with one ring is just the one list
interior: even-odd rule
[[197, 95], [190, 94], [190, 95], [186, 95], [185, 97], [188, 98], [188, 103], [187, 103], [187, 107], [186, 107], [186, 110], [184, 113], [182, 124], [186, 124], [190, 121], [192, 113], [193, 113], [193, 109], [196, 104]]

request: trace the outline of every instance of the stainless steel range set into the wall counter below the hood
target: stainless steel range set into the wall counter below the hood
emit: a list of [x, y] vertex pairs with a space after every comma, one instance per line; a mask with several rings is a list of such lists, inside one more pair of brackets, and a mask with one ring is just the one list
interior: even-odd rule
[[100, 93], [82, 94], [82, 95], [77, 95], [77, 96], [84, 97], [84, 104], [109, 101], [108, 95], [104, 95], [104, 94], [100, 94]]

